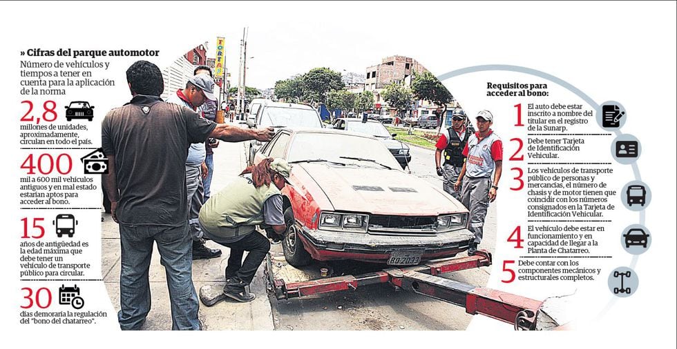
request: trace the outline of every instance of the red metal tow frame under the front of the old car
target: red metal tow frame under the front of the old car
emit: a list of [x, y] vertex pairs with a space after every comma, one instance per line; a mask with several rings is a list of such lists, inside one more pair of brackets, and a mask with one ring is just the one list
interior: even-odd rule
[[[491, 254], [478, 250], [473, 256], [428, 261], [419, 266], [388, 268], [361, 275], [342, 275], [307, 281], [290, 282], [274, 275], [272, 257], [267, 259], [269, 289], [276, 299], [292, 299], [323, 293], [356, 290], [376, 283], [390, 285], [410, 292], [462, 306], [470, 315], [484, 315], [511, 323], [515, 330], [537, 329], [537, 318], [543, 301], [519, 295], [481, 288], [444, 279], [437, 275], [491, 265]], [[280, 264], [280, 262], [278, 262]], [[551, 319], [549, 319], [551, 321]], [[546, 329], [557, 328], [559, 323], [549, 323]], [[539, 328], [542, 329], [542, 328]]]

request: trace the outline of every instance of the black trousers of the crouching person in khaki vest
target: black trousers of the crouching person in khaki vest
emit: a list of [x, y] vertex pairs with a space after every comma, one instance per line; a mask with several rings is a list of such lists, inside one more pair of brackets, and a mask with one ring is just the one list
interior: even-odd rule
[[[247, 284], [254, 279], [258, 266], [261, 265], [270, 250], [268, 238], [256, 231], [250, 232], [233, 243], [220, 244], [230, 248], [230, 257], [228, 257], [228, 266], [226, 266], [226, 279], [238, 277]], [[249, 253], [245, 261], [242, 262], [242, 255], [245, 251]]]

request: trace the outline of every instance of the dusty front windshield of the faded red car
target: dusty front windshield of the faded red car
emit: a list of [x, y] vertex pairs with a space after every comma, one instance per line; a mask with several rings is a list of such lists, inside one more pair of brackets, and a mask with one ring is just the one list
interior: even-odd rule
[[[353, 157], [356, 159], [345, 159]], [[287, 161], [326, 160], [358, 166], [401, 168], [378, 139], [347, 133], [298, 133], [289, 148]], [[362, 160], [360, 160], [362, 159]], [[371, 161], [365, 161], [373, 160]]]

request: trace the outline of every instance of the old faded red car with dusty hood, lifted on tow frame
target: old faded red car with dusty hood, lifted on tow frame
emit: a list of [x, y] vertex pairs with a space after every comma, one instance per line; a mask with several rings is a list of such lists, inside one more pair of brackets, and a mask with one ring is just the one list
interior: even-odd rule
[[292, 164], [283, 189], [285, 258], [353, 259], [392, 266], [452, 257], [474, 236], [468, 210], [441, 188], [401, 170], [374, 137], [283, 129], [256, 154]]

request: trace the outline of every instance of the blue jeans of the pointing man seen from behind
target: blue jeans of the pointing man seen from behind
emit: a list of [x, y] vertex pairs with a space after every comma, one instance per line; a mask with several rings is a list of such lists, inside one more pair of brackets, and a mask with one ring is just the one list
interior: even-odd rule
[[120, 312], [122, 330], [140, 330], [151, 310], [148, 272], [158, 244], [171, 302], [172, 330], [200, 330], [198, 295], [193, 286], [193, 250], [187, 225], [134, 226], [120, 224]]

